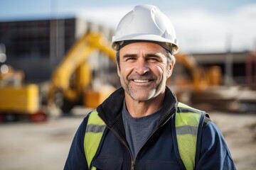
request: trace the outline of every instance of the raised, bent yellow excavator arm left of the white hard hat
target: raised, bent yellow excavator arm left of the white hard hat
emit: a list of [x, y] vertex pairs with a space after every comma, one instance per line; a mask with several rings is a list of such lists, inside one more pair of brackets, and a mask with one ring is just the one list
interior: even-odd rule
[[[115, 61], [115, 51], [103, 35], [100, 33], [86, 33], [75, 42], [53, 72], [48, 93], [48, 104], [63, 108], [66, 103], [61, 100], [74, 104], [78, 101], [83, 91], [92, 81], [90, 64], [87, 63], [87, 59], [95, 51], [100, 51]], [[75, 79], [70, 83], [74, 73]], [[58, 96], [62, 96], [63, 99]], [[58, 103], [58, 101], [61, 102]], [[65, 110], [68, 111], [69, 109]]]

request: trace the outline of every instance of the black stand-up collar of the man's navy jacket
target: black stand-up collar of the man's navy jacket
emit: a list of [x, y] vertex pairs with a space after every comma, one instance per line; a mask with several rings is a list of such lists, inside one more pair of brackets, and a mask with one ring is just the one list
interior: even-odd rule
[[[108, 127], [112, 127], [117, 120], [122, 118], [122, 106], [124, 101], [124, 89], [121, 87], [114, 91], [100, 106], [97, 107], [102, 120], [105, 121]], [[161, 116], [159, 118], [159, 126], [166, 123], [171, 115], [176, 113], [177, 99], [175, 94], [166, 86], [166, 95], [164, 97], [164, 104], [161, 108]]]

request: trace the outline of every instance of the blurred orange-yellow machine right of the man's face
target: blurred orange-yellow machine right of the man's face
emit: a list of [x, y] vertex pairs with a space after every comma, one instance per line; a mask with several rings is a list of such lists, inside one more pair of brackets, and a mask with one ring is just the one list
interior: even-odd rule
[[[222, 99], [218, 95], [222, 79], [220, 67], [213, 66], [207, 69], [200, 67], [192, 55], [182, 52], [175, 57], [177, 65], [169, 86], [174, 90], [179, 101], [193, 106], [205, 102], [210, 104], [213, 96], [216, 97], [214, 100]], [[182, 67], [179, 66], [180, 64]]]

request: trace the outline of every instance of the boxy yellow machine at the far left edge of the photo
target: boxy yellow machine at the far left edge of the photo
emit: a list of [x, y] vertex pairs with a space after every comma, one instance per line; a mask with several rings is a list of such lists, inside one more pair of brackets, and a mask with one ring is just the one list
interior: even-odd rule
[[20, 118], [43, 122], [46, 113], [41, 111], [39, 88], [36, 84], [23, 84], [24, 74], [6, 65], [0, 72], [0, 122]]

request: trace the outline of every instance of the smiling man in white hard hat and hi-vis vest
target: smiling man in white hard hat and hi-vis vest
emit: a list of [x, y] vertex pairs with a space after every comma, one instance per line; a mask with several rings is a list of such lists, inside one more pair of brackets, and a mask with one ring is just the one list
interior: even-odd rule
[[210, 118], [166, 87], [178, 42], [164, 13], [135, 6], [112, 45], [122, 88], [83, 120], [65, 169], [235, 169]]

